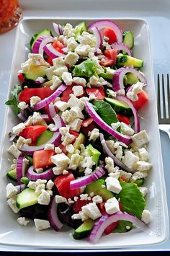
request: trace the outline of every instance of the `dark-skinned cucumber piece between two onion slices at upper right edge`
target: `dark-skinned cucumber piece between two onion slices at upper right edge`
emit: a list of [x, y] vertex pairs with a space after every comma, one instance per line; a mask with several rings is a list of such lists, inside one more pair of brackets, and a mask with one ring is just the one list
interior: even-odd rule
[[143, 67], [143, 60], [128, 55], [119, 54], [116, 61], [117, 66], [130, 66], [135, 69]]

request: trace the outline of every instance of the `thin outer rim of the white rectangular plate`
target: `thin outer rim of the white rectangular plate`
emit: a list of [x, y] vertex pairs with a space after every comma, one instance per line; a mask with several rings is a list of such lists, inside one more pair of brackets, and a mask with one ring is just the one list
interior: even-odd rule
[[[29, 20], [53, 20], [53, 19], [66, 19], [66, 20], [82, 20], [82, 19], [85, 19], [85, 20], [97, 20], [97, 19], [112, 19], [114, 21], [116, 20], [130, 20], [130, 21], [134, 21], [134, 20], [138, 20], [140, 22], [144, 22], [146, 24], [146, 27], [147, 27], [147, 30], [148, 30], [148, 47], [149, 47], [149, 55], [150, 55], [150, 59], [151, 61], [149, 62], [151, 64], [151, 80], [153, 81], [153, 99], [154, 99], [154, 103], [155, 103], [155, 107], [156, 107], [156, 87], [155, 87], [155, 81], [154, 81], [154, 74], [153, 74], [153, 58], [152, 58], [152, 51], [151, 51], [151, 33], [150, 33], [150, 28], [149, 28], [149, 25], [148, 25], [148, 21], [146, 19], [143, 19], [143, 18], [138, 18], [138, 17], [45, 17], [45, 16], [41, 16], [41, 17], [24, 17], [20, 22], [19, 22], [19, 25], [17, 27], [17, 33], [16, 33], [16, 37], [15, 37], [15, 41], [14, 41], [14, 51], [13, 51], [13, 56], [12, 56], [12, 65], [11, 65], [11, 69], [10, 69], [10, 77], [9, 77], [9, 86], [8, 86], [8, 92], [7, 92], [7, 95], [8, 95], [8, 98], [11, 94], [11, 88], [12, 88], [12, 71], [14, 70], [14, 63], [16, 61], [16, 53], [17, 53], [17, 41], [19, 40], [19, 29], [21, 27], [21, 25], [24, 23], [24, 22], [27, 22]], [[156, 107], [156, 110], [157, 110], [157, 107]], [[5, 134], [6, 134], [6, 125], [7, 125], [7, 118], [8, 118], [8, 115], [9, 115], [9, 106], [6, 105], [6, 108], [5, 108], [5, 118], [4, 118], [4, 125], [3, 125], [3, 128], [2, 128], [2, 136], [1, 136], [1, 144], [0, 144], [0, 149], [3, 149], [3, 141], [5, 139]], [[156, 119], [158, 120], [158, 116], [156, 116]], [[158, 121], [157, 121], [158, 123]], [[158, 128], [158, 126], [157, 126]], [[158, 129], [157, 129], [158, 130]], [[160, 145], [160, 149], [161, 149], [161, 139], [160, 139], [160, 134], [158, 133], [158, 145]], [[1, 169], [1, 164], [2, 164], [2, 152], [3, 150], [1, 150], [1, 154], [0, 154], [0, 169]], [[160, 152], [160, 155], [161, 155], [161, 159], [159, 161], [159, 164], [160, 164], [160, 167], [163, 167], [161, 168], [162, 171], [161, 171], [161, 175], [163, 175], [164, 177], [164, 166], [163, 166], [163, 160], [162, 160], [162, 153]], [[165, 185], [165, 177], [163, 180], [161, 180], [161, 187], [163, 187], [163, 190], [161, 190], [161, 193], [162, 193], [162, 197], [164, 196], [164, 201], [163, 201], [163, 206], [164, 206], [164, 217], [166, 217], [166, 220], [168, 222], [168, 225], [165, 227], [165, 234], [164, 236], [161, 237], [161, 239], [158, 241], [158, 242], [151, 242], [151, 243], [148, 243], [148, 244], [140, 244], [140, 246], [147, 246], [147, 245], [154, 245], [154, 244], [163, 244], [164, 242], [166, 242], [166, 240], [169, 238], [169, 214], [168, 214], [168, 206], [167, 206], [167, 196], [166, 196], [166, 185]], [[0, 244], [4, 244], [4, 245], [9, 245], [9, 246], [19, 246], [19, 244], [16, 244], [16, 243], [5, 243], [5, 242], [1, 242], [1, 239], [0, 239]], [[99, 245], [99, 244], [98, 244]], [[32, 247], [32, 245], [27, 245], [27, 244], [22, 244], [21, 245], [22, 247]], [[40, 247], [40, 245], [35, 245], [35, 247], [37, 248], [38, 250], [38, 247]], [[138, 245], [130, 245], [130, 247], [138, 247]], [[127, 247], [126, 245], [123, 246], [121, 245], [120, 248], [124, 249], [124, 248], [130, 248], [130, 247]], [[52, 249], [53, 248], [55, 250], [62, 250], [63, 247], [59, 247], [59, 249], [57, 249], [57, 247], [45, 247], [45, 246], [42, 246], [43, 249], [47, 248], [47, 249]], [[70, 248], [67, 248], [66, 251], [72, 251], [72, 250], [75, 250], [76, 252], [79, 252], [79, 251], [82, 251], [82, 252], [85, 252], [85, 251], [91, 251], [91, 252], [96, 252], [96, 251], [103, 251], [103, 250], [117, 250], [119, 248], [117, 247], [113, 247], [113, 248], [110, 248], [110, 247], [105, 247], [105, 248], [100, 248], [99, 250], [97, 249], [81, 249], [81, 247], [77, 247], [78, 249], [73, 249], [73, 247], [70, 247]]]

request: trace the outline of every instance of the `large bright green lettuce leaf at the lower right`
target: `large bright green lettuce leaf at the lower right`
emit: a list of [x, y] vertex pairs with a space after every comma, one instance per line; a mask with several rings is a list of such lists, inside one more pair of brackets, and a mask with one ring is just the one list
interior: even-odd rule
[[120, 198], [123, 211], [131, 213], [140, 219], [142, 212], [146, 207], [146, 200], [143, 198], [142, 193], [140, 193], [138, 185], [135, 183], [124, 182], [121, 179], [119, 180], [122, 190], [117, 197]]

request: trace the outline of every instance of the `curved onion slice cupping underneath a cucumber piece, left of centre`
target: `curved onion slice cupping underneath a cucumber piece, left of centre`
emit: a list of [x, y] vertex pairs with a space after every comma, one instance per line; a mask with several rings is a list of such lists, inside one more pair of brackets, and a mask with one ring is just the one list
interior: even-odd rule
[[55, 132], [53, 134], [53, 137], [50, 138], [49, 141], [47, 141], [45, 144], [42, 144], [40, 146], [29, 146], [24, 144], [21, 147], [20, 151], [26, 154], [34, 154], [35, 151], [44, 149], [46, 144], [54, 144], [54, 146], [58, 146], [59, 144], [61, 144], [61, 133]]

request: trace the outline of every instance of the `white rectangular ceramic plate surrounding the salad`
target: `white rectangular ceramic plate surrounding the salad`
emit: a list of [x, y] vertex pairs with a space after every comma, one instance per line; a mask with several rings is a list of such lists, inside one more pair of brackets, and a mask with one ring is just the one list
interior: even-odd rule
[[[89, 24], [94, 19], [83, 19]], [[132, 30], [135, 35], [134, 56], [144, 61], [143, 73], [146, 75], [148, 86], [149, 102], [140, 112], [142, 117], [141, 128], [148, 132], [151, 142], [148, 145], [149, 161], [153, 164], [153, 169], [148, 175], [145, 185], [148, 187], [146, 209], [151, 211], [151, 224], [149, 234], [133, 229], [124, 234], [109, 234], [103, 236], [98, 244], [90, 244], [84, 240], [74, 240], [69, 234], [71, 230], [53, 231], [52, 229], [37, 231], [33, 223], [28, 226], [17, 224], [17, 215], [12, 213], [6, 205], [6, 170], [9, 169], [10, 158], [7, 149], [9, 143], [8, 133], [18, 120], [10, 107], [6, 108], [6, 118], [4, 121], [4, 133], [1, 144], [1, 172], [0, 172], [0, 243], [6, 245], [20, 245], [30, 247], [55, 248], [55, 250], [110, 250], [121, 247], [133, 247], [138, 245], [158, 244], [166, 241], [169, 234], [169, 217], [166, 204], [166, 188], [164, 182], [164, 169], [161, 158], [161, 144], [158, 133], [158, 119], [156, 112], [156, 97], [153, 81], [153, 66], [151, 61], [151, 46], [148, 23], [143, 19], [113, 19], [122, 30]], [[29, 52], [29, 41], [33, 34], [49, 28], [53, 35], [53, 22], [77, 25], [81, 19], [55, 19], [38, 18], [23, 19], [17, 28], [17, 37], [14, 48], [12, 63], [12, 73], [9, 82], [10, 91], [17, 84], [17, 71], [20, 64], [26, 61]]]

